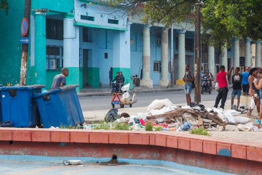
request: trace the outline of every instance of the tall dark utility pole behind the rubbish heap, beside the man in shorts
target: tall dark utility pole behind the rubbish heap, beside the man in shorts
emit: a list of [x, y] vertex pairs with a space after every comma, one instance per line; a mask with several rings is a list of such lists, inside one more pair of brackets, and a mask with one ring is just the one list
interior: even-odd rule
[[[201, 43], [200, 43], [200, 31], [201, 31], [201, 6], [203, 2], [197, 2], [195, 5], [197, 6], [197, 16], [195, 23], [195, 75], [196, 75], [196, 88], [195, 88], [195, 103], [199, 104], [201, 102]], [[197, 72], [196, 72], [197, 69]]]

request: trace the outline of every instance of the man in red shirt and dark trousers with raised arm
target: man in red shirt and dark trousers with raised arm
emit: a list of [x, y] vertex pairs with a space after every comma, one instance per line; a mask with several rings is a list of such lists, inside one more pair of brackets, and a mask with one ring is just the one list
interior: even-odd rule
[[219, 70], [220, 71], [216, 75], [216, 80], [217, 80], [217, 83], [218, 83], [219, 90], [218, 90], [218, 94], [217, 94], [216, 99], [215, 99], [214, 107], [217, 108], [220, 100], [222, 99], [220, 108], [224, 109], [225, 103], [226, 103], [226, 100], [227, 100], [227, 95], [228, 95], [228, 92], [229, 92], [226, 76], [231, 74], [233, 67], [228, 72], [225, 72], [225, 70], [226, 70], [225, 66], [220, 66]]

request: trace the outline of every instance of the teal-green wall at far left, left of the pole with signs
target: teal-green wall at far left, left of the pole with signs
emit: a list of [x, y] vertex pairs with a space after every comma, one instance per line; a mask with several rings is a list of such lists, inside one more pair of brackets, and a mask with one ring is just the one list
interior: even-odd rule
[[[8, 0], [8, 15], [0, 10], [0, 84], [16, 85], [20, 80], [21, 50], [19, 43], [24, 0]], [[18, 10], [16, 10], [18, 9]], [[21, 10], [19, 10], [21, 9]], [[30, 53], [28, 53], [30, 55]]]

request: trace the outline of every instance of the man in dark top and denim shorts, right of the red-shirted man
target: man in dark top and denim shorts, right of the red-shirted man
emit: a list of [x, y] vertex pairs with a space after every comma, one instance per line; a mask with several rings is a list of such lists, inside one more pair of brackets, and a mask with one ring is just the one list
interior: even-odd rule
[[233, 91], [231, 94], [231, 109], [233, 109], [233, 104], [234, 104], [234, 98], [237, 95], [237, 107], [236, 110], [238, 111], [238, 106], [240, 103], [240, 96], [241, 96], [241, 90], [242, 90], [242, 78], [243, 76], [239, 74], [240, 69], [235, 68], [235, 74], [232, 76], [232, 84], [233, 84]]

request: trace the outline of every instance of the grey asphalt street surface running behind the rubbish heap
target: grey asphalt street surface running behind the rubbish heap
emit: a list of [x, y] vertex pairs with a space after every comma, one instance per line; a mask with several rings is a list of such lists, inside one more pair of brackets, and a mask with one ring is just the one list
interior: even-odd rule
[[[228, 100], [231, 98], [232, 89], [229, 88]], [[191, 93], [192, 102], [194, 102], [195, 91]], [[205, 93], [201, 94], [201, 101], [215, 101], [217, 92], [212, 91], [211, 94]], [[184, 91], [176, 92], [156, 92], [156, 93], [138, 93], [137, 103], [133, 104], [132, 107], [143, 107], [150, 105], [154, 100], [169, 99], [173, 104], [186, 103]], [[79, 97], [80, 105], [82, 111], [95, 111], [95, 110], [104, 110], [112, 109], [111, 105], [111, 95], [107, 96], [93, 96], [93, 97]], [[119, 108], [119, 105], [115, 105], [116, 108]], [[129, 107], [129, 106], [127, 106]]]

